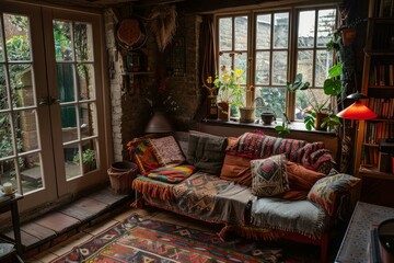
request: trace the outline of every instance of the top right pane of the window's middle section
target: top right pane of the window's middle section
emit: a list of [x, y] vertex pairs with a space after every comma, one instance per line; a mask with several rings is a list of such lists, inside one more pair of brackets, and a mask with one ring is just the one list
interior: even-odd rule
[[289, 45], [289, 13], [274, 16], [274, 48], [287, 48]]

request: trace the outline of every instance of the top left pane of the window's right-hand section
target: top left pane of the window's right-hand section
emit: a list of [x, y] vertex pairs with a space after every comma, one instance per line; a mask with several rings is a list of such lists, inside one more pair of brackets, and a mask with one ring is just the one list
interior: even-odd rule
[[313, 47], [315, 32], [315, 11], [300, 12], [298, 47]]

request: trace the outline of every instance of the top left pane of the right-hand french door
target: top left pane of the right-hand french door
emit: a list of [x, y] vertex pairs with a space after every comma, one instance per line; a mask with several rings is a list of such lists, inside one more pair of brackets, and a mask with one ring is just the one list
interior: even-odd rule
[[70, 22], [54, 20], [56, 61], [73, 60], [71, 27], [72, 24]]

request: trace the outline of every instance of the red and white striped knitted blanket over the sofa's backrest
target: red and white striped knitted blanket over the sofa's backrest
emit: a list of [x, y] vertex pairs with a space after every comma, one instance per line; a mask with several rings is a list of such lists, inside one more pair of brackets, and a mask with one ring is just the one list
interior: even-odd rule
[[283, 139], [263, 134], [245, 133], [235, 145], [229, 147], [229, 155], [264, 159], [274, 155], [285, 153], [289, 161], [298, 162], [304, 168], [317, 171], [324, 162], [335, 163], [329, 150], [324, 149], [322, 141]]

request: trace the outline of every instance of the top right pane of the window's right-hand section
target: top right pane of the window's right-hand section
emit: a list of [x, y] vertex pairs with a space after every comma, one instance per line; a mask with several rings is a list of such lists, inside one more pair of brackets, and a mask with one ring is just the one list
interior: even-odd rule
[[317, 47], [325, 47], [335, 30], [335, 9], [320, 10], [317, 16]]

